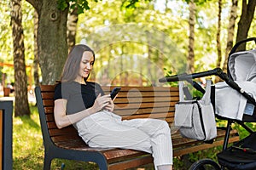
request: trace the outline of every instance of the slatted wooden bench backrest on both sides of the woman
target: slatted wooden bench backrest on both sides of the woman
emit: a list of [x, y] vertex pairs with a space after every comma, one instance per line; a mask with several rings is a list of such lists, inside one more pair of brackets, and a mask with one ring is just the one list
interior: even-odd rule
[[[113, 87], [102, 88], [106, 94], [113, 89]], [[41, 85], [40, 88], [36, 88], [44, 141], [58, 143], [62, 140], [78, 139], [77, 130], [73, 126], [58, 129], [55, 125], [54, 90], [54, 85]], [[124, 119], [158, 118], [166, 120], [171, 125], [174, 117], [174, 105], [177, 101], [178, 88], [121, 87], [114, 100], [114, 112], [123, 116]]]

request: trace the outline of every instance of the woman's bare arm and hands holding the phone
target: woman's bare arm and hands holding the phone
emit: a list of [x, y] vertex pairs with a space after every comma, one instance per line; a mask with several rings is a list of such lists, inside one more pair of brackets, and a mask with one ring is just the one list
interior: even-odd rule
[[97, 111], [101, 111], [104, 107], [113, 111], [113, 101], [111, 100], [110, 95], [101, 96], [101, 94], [99, 94], [92, 107], [72, 115], [67, 115], [67, 99], [56, 99], [54, 108], [56, 126], [58, 128], [67, 127], [75, 122], [79, 122], [86, 116], [90, 116]]

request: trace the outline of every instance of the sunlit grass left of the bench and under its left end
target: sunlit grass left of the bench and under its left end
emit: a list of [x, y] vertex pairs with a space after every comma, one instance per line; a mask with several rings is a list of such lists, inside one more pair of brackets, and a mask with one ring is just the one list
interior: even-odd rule
[[[14, 117], [13, 120], [13, 169], [41, 170], [44, 164], [44, 145], [38, 110], [31, 106], [32, 115]], [[55, 159], [51, 169], [98, 169], [94, 163]]]

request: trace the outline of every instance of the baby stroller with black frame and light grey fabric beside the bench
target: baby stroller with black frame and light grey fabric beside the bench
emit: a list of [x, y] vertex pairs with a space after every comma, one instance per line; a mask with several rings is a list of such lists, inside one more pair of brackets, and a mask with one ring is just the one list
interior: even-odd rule
[[[224, 82], [218, 82], [215, 85], [212, 85], [212, 105], [214, 107], [215, 115], [219, 119], [224, 119], [227, 121], [226, 133], [224, 137], [223, 150], [217, 154], [218, 163], [212, 161], [211, 159], [202, 159], [196, 161], [190, 167], [190, 170], [201, 170], [201, 169], [230, 169], [230, 170], [253, 170], [256, 169], [256, 132], [250, 127], [247, 127], [246, 122], [256, 122], [256, 49], [249, 51], [236, 52], [236, 49], [241, 45], [241, 43], [246, 43], [254, 41], [256, 43], [256, 37], [247, 38], [241, 42], [237, 42], [232, 48], [229, 60], [228, 60], [228, 72], [224, 73], [219, 68], [213, 69], [211, 71], [203, 71], [193, 74], [181, 74], [171, 77], [160, 78], [159, 82], [177, 82], [177, 81], [187, 81], [189, 82], [196, 90], [201, 93], [205, 93], [204, 88], [201, 88], [201, 85], [198, 82], [195, 82], [193, 79], [199, 77], [209, 77], [209, 76], [218, 76]], [[249, 84], [249, 85], [248, 85]], [[255, 88], [255, 89], [253, 89]], [[236, 107], [236, 102], [234, 96], [231, 96], [230, 99], [227, 98], [227, 95], [231, 91], [236, 91], [235, 96], [239, 94], [238, 99], [241, 106], [241, 103], [244, 105], [243, 110], [241, 107]], [[223, 95], [224, 94], [224, 95]], [[232, 93], [231, 93], [232, 94]], [[218, 99], [218, 97], [222, 99]], [[229, 100], [231, 100], [229, 102]], [[234, 103], [235, 102], [235, 103]], [[223, 104], [224, 103], [224, 104]], [[237, 110], [236, 115], [231, 115], [229, 105], [232, 105], [232, 109]], [[222, 105], [222, 106], [221, 106]], [[228, 107], [228, 109], [224, 109]], [[238, 111], [239, 110], [239, 111]], [[240, 111], [241, 110], [241, 111]], [[232, 111], [232, 110], [231, 110]], [[218, 113], [217, 113], [218, 112]], [[226, 112], [230, 112], [226, 114]], [[241, 112], [241, 113], [240, 113]], [[228, 147], [229, 133], [232, 123], [238, 123], [247, 130], [249, 135], [241, 139], [239, 142]]]

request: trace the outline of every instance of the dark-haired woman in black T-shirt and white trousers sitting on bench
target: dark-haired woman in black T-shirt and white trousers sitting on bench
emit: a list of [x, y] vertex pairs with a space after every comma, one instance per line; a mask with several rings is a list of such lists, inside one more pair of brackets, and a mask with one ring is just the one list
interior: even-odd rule
[[93, 50], [76, 45], [68, 55], [61, 82], [55, 87], [57, 127], [73, 124], [90, 147], [143, 150], [158, 170], [172, 169], [172, 139], [168, 124], [157, 119], [122, 121], [113, 100], [96, 82], [88, 82], [95, 61]]

